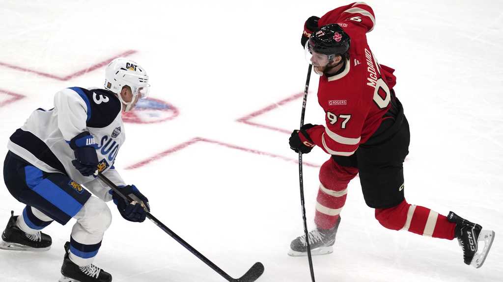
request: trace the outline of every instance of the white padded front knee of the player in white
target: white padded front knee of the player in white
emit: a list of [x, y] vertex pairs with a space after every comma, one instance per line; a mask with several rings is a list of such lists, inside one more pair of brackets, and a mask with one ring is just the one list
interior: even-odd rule
[[101, 233], [110, 227], [112, 213], [107, 203], [103, 200], [91, 197], [82, 208], [85, 209], [84, 216], [78, 221], [86, 231]]

